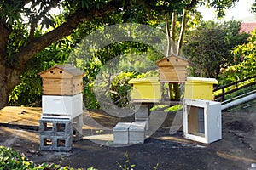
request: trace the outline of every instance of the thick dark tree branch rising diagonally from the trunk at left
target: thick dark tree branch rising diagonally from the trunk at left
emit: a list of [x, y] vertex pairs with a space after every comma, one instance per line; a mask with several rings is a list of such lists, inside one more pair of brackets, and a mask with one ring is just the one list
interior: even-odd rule
[[48, 47], [51, 43], [60, 40], [63, 37], [70, 35], [80, 23], [84, 20], [90, 21], [96, 18], [102, 18], [106, 13], [117, 9], [114, 3], [108, 3], [102, 8], [92, 8], [89, 11], [85, 8], [80, 8], [72, 16], [67, 19], [67, 22], [61, 24], [53, 31], [49, 31], [42, 37], [33, 39], [28, 42], [25, 47], [20, 48], [20, 52], [15, 54], [14, 57], [18, 58], [19, 67], [26, 65], [26, 62], [31, 59], [35, 54], [38, 54], [41, 50]]

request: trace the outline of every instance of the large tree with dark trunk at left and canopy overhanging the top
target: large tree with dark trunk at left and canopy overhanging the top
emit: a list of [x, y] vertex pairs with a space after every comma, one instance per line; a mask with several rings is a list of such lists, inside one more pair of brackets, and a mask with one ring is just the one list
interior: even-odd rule
[[[128, 22], [140, 14], [154, 19], [166, 11], [195, 7], [207, 0], [3, 0], [0, 2], [0, 109], [8, 105], [9, 94], [20, 84], [20, 75], [29, 61], [44, 48], [70, 35], [80, 23], [105, 20], [123, 14]], [[212, 0], [220, 12], [236, 0]], [[219, 8], [222, 7], [222, 8]], [[57, 22], [51, 8], [62, 8], [64, 20]], [[106, 19], [107, 20], [107, 19]], [[52, 26], [51, 31], [43, 31]], [[43, 56], [42, 56], [43, 57]]]

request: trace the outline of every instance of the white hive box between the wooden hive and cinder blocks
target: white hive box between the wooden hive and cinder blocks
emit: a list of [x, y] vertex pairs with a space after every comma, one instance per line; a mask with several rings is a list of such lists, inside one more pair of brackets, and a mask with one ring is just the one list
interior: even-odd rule
[[73, 96], [42, 96], [42, 118], [73, 118], [83, 112], [83, 96], [76, 94]]

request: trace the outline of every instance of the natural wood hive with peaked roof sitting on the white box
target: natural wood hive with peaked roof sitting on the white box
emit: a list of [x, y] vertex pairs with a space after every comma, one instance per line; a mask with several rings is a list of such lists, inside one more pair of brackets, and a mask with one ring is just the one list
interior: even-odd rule
[[43, 79], [44, 95], [74, 95], [83, 91], [84, 71], [73, 65], [55, 65], [39, 72]]

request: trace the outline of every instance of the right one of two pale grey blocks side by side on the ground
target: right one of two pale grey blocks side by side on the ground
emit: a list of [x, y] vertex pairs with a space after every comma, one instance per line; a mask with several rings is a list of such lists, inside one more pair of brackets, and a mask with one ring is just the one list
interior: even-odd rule
[[132, 122], [129, 128], [129, 144], [143, 144], [146, 139], [146, 122]]

